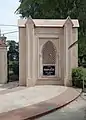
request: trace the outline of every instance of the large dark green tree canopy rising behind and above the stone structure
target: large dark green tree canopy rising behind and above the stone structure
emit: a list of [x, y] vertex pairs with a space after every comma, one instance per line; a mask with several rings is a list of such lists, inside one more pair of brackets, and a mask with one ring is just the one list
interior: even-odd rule
[[70, 16], [78, 19], [79, 63], [86, 62], [86, 0], [20, 0], [17, 13], [22, 17], [31, 15], [32, 18], [58, 19]]

